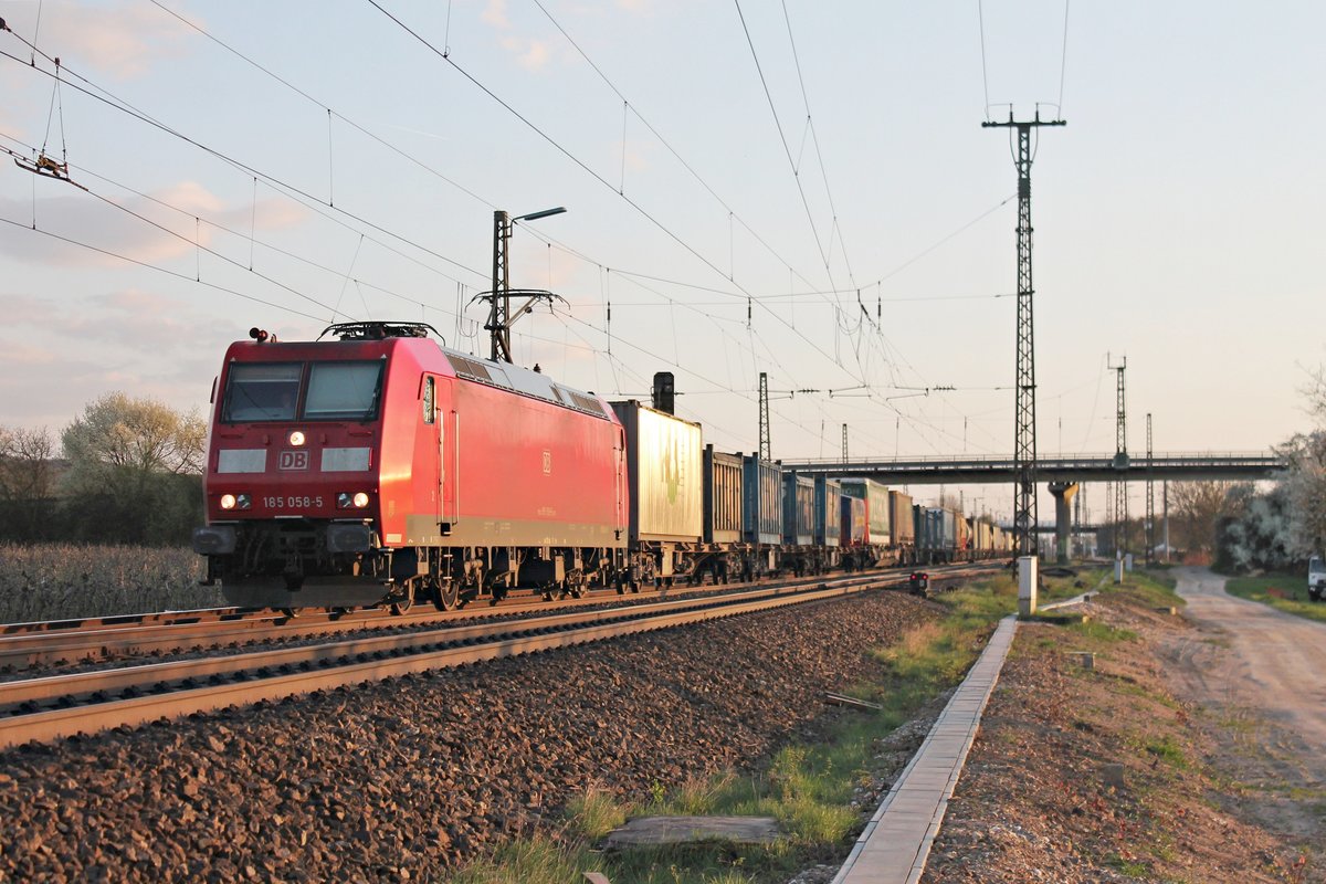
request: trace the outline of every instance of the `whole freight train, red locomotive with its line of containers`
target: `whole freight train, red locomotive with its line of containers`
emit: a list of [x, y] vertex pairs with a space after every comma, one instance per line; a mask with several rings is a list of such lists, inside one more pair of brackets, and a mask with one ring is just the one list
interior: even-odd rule
[[671, 414], [671, 375], [648, 406], [609, 402], [430, 333], [353, 322], [229, 346], [194, 531], [204, 583], [245, 607], [448, 610], [517, 588], [626, 592], [1010, 547], [997, 526], [871, 480], [704, 445]]

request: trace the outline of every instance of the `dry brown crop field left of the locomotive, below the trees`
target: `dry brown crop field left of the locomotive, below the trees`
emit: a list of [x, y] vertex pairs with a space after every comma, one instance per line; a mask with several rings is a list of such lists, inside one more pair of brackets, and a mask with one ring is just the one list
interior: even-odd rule
[[188, 549], [0, 543], [0, 623], [223, 604]]

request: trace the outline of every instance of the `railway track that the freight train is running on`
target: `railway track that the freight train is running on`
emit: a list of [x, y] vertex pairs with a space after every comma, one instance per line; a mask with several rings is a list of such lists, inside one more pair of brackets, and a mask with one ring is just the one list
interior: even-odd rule
[[[960, 565], [935, 569], [937, 579], [965, 574], [988, 565]], [[882, 580], [902, 583], [906, 570], [871, 573]], [[798, 586], [815, 578], [781, 580], [774, 586]], [[733, 591], [739, 584], [678, 587], [672, 592]], [[582, 599], [549, 603], [538, 596], [505, 599], [489, 606], [467, 606], [440, 612], [422, 608], [392, 615], [381, 610], [328, 612], [305, 608], [300, 616], [271, 610], [206, 608], [146, 615], [126, 615], [86, 620], [23, 623], [0, 627], [0, 669], [23, 671], [36, 667], [110, 660], [131, 660], [151, 655], [171, 655], [263, 643], [316, 640], [374, 630], [420, 630], [457, 620], [546, 614], [585, 606], [601, 606], [619, 599], [613, 590], [595, 590]], [[629, 596], [633, 602], [647, 596]]]

